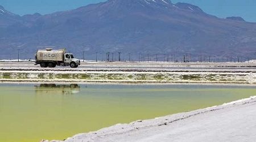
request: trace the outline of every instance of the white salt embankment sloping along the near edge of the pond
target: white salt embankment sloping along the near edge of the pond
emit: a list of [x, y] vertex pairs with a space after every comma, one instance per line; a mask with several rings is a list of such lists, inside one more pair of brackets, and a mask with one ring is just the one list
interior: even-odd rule
[[255, 119], [256, 97], [251, 97], [191, 112], [116, 124], [64, 141], [255, 141]]

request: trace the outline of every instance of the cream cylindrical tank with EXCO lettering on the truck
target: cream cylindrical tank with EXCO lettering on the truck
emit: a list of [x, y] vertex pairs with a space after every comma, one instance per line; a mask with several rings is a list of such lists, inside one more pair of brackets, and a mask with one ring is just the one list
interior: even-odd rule
[[37, 60], [40, 61], [63, 61], [65, 50], [40, 49], [36, 53]]

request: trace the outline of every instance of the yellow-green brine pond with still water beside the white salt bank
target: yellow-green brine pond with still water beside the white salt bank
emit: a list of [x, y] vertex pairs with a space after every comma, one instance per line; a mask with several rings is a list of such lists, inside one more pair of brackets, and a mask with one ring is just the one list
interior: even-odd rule
[[253, 95], [251, 86], [0, 84], [0, 141], [63, 140]]

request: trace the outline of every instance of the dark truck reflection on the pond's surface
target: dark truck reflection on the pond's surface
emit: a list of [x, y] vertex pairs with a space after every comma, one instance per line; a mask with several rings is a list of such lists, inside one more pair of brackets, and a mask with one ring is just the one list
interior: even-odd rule
[[36, 95], [72, 95], [80, 92], [80, 86], [77, 84], [71, 85], [56, 85], [56, 84], [40, 84], [35, 86]]

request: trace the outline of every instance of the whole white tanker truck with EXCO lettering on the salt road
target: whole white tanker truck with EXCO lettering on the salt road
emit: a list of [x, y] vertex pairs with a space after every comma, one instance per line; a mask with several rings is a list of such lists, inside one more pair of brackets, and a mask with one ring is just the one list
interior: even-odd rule
[[55, 68], [56, 65], [77, 68], [80, 65], [80, 60], [75, 59], [72, 53], [66, 53], [65, 49], [40, 49], [36, 52], [35, 60], [35, 65], [40, 65], [41, 68]]

